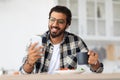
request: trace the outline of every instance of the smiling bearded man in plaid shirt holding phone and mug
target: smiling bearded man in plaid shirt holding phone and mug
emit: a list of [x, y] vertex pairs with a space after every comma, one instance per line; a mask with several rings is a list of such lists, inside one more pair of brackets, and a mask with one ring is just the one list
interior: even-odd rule
[[54, 73], [60, 69], [76, 69], [77, 53], [80, 52], [88, 52], [88, 64], [92, 72], [103, 71], [98, 54], [89, 51], [80, 37], [66, 31], [71, 24], [71, 17], [71, 11], [65, 6], [55, 6], [50, 10], [49, 31], [40, 36], [45, 51], [40, 51], [43, 46], [36, 47], [38, 43], [30, 44], [20, 69], [22, 73]]

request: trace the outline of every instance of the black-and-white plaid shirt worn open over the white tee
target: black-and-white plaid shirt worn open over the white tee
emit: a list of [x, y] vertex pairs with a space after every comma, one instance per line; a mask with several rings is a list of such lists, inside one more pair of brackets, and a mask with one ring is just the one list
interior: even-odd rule
[[[69, 32], [65, 32], [64, 34], [64, 39], [60, 44], [60, 68], [76, 69], [77, 53], [88, 52], [88, 48], [80, 37]], [[40, 37], [42, 37], [42, 44], [46, 47], [46, 50], [44, 56], [38, 59], [35, 63], [34, 73], [48, 71], [48, 66], [53, 53], [53, 44], [50, 41], [50, 32], [47, 31]], [[26, 59], [24, 61], [26, 61]]]

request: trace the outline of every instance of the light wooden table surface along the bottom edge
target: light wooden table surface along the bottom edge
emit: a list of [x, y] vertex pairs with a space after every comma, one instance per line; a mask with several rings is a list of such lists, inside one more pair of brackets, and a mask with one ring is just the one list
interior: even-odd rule
[[1, 75], [0, 80], [120, 80], [120, 73]]

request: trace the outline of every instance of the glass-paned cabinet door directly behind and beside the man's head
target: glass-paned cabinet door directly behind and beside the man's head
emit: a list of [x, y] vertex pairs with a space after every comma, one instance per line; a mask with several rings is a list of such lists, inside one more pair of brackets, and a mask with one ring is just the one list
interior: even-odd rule
[[72, 12], [72, 21], [69, 31], [78, 34], [78, 0], [58, 0], [59, 5], [67, 6]]

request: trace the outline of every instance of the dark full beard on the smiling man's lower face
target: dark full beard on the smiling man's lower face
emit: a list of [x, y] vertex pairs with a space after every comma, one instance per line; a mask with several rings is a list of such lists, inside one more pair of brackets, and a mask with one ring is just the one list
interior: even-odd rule
[[[52, 31], [52, 29], [54, 29], [55, 31]], [[51, 27], [49, 27], [50, 36], [52, 38], [59, 37], [65, 32], [65, 29], [66, 29], [66, 27], [64, 29], [60, 29], [59, 27], [51, 26]]]

